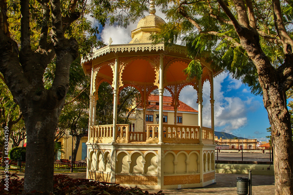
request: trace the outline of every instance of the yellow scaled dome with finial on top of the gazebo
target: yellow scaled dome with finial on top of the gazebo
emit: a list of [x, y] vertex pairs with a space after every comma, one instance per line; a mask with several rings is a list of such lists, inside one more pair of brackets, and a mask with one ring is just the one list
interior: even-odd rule
[[149, 38], [151, 33], [160, 32], [161, 25], [166, 24], [162, 18], [155, 15], [156, 9], [153, 1], [151, 1], [149, 12], [150, 15], [139, 20], [137, 28], [131, 31], [132, 40], [130, 44], [151, 43]]

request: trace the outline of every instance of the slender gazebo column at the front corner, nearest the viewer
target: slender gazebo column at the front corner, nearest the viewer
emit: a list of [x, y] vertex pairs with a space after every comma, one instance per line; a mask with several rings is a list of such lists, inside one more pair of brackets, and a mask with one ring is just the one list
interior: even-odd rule
[[160, 69], [159, 69], [159, 144], [163, 144], [163, 93], [164, 93], [164, 83], [163, 83], [163, 54], [160, 54]]

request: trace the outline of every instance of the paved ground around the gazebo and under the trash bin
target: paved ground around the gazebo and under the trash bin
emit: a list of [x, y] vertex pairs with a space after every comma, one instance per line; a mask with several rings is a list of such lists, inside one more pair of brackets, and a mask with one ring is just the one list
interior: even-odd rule
[[[0, 175], [2, 171], [0, 171]], [[68, 173], [60, 172], [55, 175], [63, 174], [71, 178], [86, 178], [85, 172]], [[17, 173], [18, 177], [23, 178], [24, 173]], [[163, 190], [166, 195], [236, 195], [236, 177], [248, 177], [248, 175], [216, 173], [216, 184], [204, 188], [190, 188], [190, 189], [171, 189]], [[2, 178], [2, 177], [1, 177]], [[158, 190], [148, 190], [150, 193], [158, 192]], [[268, 175], [252, 175], [252, 194], [253, 195], [274, 195], [275, 194], [275, 178]]]

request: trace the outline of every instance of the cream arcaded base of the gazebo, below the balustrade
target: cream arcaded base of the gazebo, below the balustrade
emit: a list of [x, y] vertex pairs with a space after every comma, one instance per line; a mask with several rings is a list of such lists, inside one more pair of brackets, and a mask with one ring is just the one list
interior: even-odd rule
[[147, 144], [143, 140], [94, 143], [92, 139], [87, 143], [87, 178], [142, 189], [192, 188], [213, 184], [213, 140], [206, 139], [204, 144], [181, 144], [183, 135], [186, 136], [186, 132], [173, 134], [173, 137], [179, 136], [176, 142], [173, 139], [174, 144]]

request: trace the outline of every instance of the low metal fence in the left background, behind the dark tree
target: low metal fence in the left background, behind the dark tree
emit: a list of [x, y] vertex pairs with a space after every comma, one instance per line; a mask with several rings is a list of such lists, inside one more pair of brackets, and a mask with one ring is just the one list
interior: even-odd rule
[[[11, 161], [11, 166], [17, 166], [17, 161]], [[54, 169], [70, 169], [71, 161], [54, 161]], [[21, 163], [21, 166], [25, 167], [25, 162]], [[73, 162], [73, 169], [86, 169], [86, 162], [75, 161]]]

